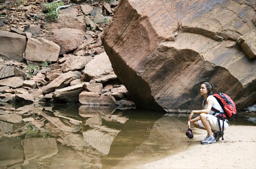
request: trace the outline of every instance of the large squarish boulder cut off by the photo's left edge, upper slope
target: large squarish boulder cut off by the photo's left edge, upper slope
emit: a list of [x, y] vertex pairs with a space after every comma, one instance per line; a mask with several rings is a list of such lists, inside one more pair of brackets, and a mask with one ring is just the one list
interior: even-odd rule
[[0, 56], [7, 60], [23, 58], [26, 50], [26, 37], [20, 34], [0, 30]]

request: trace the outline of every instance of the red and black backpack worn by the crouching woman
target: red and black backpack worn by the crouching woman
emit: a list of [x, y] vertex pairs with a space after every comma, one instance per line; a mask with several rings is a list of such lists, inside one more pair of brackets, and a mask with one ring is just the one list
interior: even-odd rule
[[[217, 115], [217, 117], [220, 119], [223, 119], [223, 118], [233, 119], [234, 116], [237, 114], [237, 111], [236, 111], [236, 104], [231, 99], [231, 97], [227, 96], [225, 93], [213, 94], [213, 96], [216, 98], [216, 100], [224, 110], [223, 117], [222, 117], [222, 113], [221, 115]], [[214, 109], [213, 107], [212, 107], [212, 111], [219, 113], [219, 111]]]

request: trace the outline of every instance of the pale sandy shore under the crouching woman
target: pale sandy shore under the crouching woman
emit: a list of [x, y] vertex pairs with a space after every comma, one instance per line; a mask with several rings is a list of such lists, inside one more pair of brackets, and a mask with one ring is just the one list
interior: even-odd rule
[[183, 152], [145, 163], [137, 169], [256, 169], [256, 127], [230, 126], [224, 140], [215, 144], [200, 144], [206, 131], [192, 128], [194, 138]]

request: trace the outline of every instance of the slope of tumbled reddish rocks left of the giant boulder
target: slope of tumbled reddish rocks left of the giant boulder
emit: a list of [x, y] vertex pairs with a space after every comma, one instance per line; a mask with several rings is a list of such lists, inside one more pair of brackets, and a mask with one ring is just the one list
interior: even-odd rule
[[135, 108], [100, 38], [119, 1], [81, 1], [62, 0], [54, 21], [42, 12], [57, 1], [0, 1], [1, 104], [64, 101]]

